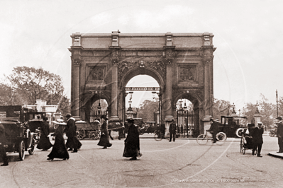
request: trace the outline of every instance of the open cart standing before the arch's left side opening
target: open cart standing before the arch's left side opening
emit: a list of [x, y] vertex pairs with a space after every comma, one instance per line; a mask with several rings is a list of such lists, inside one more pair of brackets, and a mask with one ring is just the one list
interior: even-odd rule
[[77, 139], [100, 139], [100, 123], [98, 120], [95, 120], [94, 122], [77, 121], [76, 126]]

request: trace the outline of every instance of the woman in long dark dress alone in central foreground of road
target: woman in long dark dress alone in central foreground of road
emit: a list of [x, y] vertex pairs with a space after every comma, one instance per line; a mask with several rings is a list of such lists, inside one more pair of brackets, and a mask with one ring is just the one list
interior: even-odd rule
[[140, 138], [138, 128], [135, 127], [133, 119], [127, 119], [128, 122], [128, 135], [125, 139], [125, 148], [123, 157], [130, 158], [130, 160], [137, 160], [138, 151], [140, 151]]

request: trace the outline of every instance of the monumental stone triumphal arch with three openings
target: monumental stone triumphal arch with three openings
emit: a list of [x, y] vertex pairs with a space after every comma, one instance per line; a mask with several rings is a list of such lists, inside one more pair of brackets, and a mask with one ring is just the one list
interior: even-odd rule
[[87, 120], [95, 100], [108, 103], [109, 122], [123, 120], [125, 87], [134, 76], [152, 76], [160, 85], [162, 119], [175, 119], [180, 98], [194, 105], [199, 132], [209, 123], [213, 104], [211, 33], [74, 33], [72, 37], [72, 114]]

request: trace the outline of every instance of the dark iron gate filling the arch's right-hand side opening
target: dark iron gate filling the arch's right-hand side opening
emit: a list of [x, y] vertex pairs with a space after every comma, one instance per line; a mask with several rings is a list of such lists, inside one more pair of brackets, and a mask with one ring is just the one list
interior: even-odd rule
[[179, 138], [192, 138], [199, 135], [199, 123], [194, 110], [177, 111], [177, 136]]

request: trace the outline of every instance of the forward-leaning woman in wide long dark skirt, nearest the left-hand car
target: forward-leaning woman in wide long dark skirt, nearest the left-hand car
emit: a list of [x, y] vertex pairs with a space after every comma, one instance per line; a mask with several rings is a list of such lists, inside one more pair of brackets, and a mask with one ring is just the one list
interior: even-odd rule
[[54, 158], [62, 158], [63, 160], [69, 159], [69, 153], [65, 145], [65, 139], [63, 137], [65, 124], [59, 124], [55, 131], [55, 143], [53, 145], [51, 153], [48, 155], [48, 160]]

